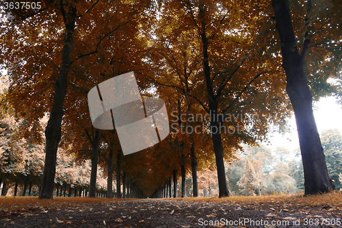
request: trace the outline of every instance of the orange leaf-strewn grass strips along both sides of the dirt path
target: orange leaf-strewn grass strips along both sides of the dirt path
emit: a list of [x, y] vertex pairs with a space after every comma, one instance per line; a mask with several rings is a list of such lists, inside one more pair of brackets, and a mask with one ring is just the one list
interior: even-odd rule
[[[97, 203], [110, 203], [114, 201], [124, 201], [131, 199], [107, 199], [107, 198], [88, 198], [88, 197], [54, 197], [51, 199], [40, 200], [38, 197], [0, 197], [0, 212], [14, 212], [40, 209], [57, 209], [60, 207], [88, 207]], [[232, 203], [239, 205], [287, 205], [291, 206], [328, 206], [342, 207], [342, 194], [339, 192], [330, 192], [326, 194], [317, 194], [305, 196], [303, 194], [278, 194], [271, 196], [232, 196], [224, 198], [216, 197], [185, 197], [168, 198], [168, 200], [181, 201], [209, 201], [212, 203]], [[58, 210], [58, 209], [57, 209]]]

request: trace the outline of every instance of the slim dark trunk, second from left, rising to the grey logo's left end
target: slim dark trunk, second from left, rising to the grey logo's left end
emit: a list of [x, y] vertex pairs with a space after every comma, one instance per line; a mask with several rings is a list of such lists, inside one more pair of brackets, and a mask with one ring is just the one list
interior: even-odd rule
[[92, 139], [92, 172], [90, 173], [89, 197], [96, 197], [96, 177], [98, 164], [98, 149], [101, 140], [101, 132], [96, 129]]

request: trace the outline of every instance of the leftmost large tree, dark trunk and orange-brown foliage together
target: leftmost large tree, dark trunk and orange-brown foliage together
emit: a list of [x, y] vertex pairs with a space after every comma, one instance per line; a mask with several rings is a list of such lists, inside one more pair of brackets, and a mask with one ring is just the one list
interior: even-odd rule
[[[75, 62], [83, 58], [88, 58], [89, 62], [89, 58], [97, 55], [100, 49], [106, 49], [102, 46], [103, 41], [111, 40], [114, 31], [129, 21], [136, 22], [138, 18], [143, 20], [142, 14], [148, 14], [146, 10], [149, 5], [150, 1], [137, 3], [89, 1], [86, 4], [74, 1], [43, 2], [42, 10], [37, 10], [32, 14], [25, 12], [24, 15], [21, 13], [19, 15], [18, 10], [13, 10], [14, 19], [8, 21], [7, 26], [1, 27], [1, 50], [4, 55], [8, 56], [8, 58], [1, 59], [1, 65], [5, 65], [11, 75], [8, 99], [12, 98], [10, 101], [14, 105], [16, 114], [25, 116], [29, 126], [37, 118], [41, 118], [44, 112], [51, 110], [49, 113], [51, 119], [46, 131], [47, 157], [40, 199], [52, 198], [57, 147], [62, 136], [63, 110], [70, 105], [64, 102], [70, 98], [67, 84], [74, 84], [77, 87], [77, 81], [79, 81], [77, 78], [79, 74], [73, 68]], [[38, 14], [40, 14], [39, 17]], [[96, 18], [96, 23], [94, 23], [94, 18]], [[111, 20], [117, 23], [110, 23]], [[74, 31], [76, 21], [78, 29]], [[111, 26], [112, 24], [114, 26]], [[138, 27], [137, 23], [134, 23], [134, 27]], [[61, 31], [64, 32], [64, 40], [60, 36]], [[127, 31], [129, 34], [129, 29]], [[119, 34], [124, 36], [125, 32]], [[16, 40], [14, 37], [18, 38], [18, 42], [11, 42], [11, 40]], [[27, 37], [30, 37], [29, 42], [27, 42]], [[73, 40], [76, 42], [74, 43]], [[123, 40], [122, 37], [121, 40]], [[49, 51], [46, 51], [47, 49]], [[107, 53], [112, 54], [115, 48], [111, 46], [106, 50]], [[108, 63], [116, 61], [115, 58], [110, 59]], [[96, 59], [93, 60], [96, 62]], [[118, 65], [115, 71], [120, 71], [120, 63]], [[58, 68], [60, 71], [57, 72]], [[68, 74], [70, 69], [73, 77]], [[84, 79], [86, 75], [82, 76]], [[32, 84], [23, 84], [20, 82], [22, 80], [31, 81]], [[56, 82], [55, 90], [53, 90], [54, 82]], [[98, 84], [98, 81], [95, 82]], [[42, 95], [44, 99], [41, 99]], [[30, 102], [27, 102], [27, 98]]]

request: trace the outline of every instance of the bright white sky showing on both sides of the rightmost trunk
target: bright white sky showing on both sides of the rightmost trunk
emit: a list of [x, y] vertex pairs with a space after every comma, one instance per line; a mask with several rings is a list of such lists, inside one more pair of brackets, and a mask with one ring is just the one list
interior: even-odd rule
[[[342, 133], [342, 105], [337, 103], [337, 99], [334, 97], [321, 98], [318, 102], [314, 103], [313, 109], [319, 134], [328, 129], [339, 129]], [[292, 115], [289, 120], [289, 126], [291, 132], [285, 134], [285, 136], [274, 134], [274, 136], [269, 139], [271, 145], [268, 147], [285, 147], [289, 150], [299, 149], [298, 133], [294, 115]]]

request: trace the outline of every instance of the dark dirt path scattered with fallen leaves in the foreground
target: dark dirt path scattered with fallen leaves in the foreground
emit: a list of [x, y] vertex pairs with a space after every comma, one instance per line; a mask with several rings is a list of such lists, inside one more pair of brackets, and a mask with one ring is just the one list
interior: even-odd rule
[[341, 219], [340, 207], [139, 199], [1, 212], [0, 227], [342, 227]]

